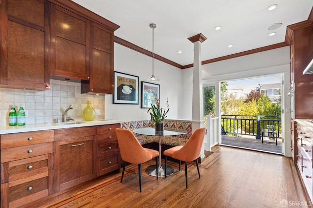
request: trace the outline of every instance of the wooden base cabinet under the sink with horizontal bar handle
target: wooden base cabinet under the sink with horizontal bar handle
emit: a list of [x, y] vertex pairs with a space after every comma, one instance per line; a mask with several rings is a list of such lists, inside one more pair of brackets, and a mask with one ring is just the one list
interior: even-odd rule
[[55, 192], [96, 177], [96, 126], [54, 130]]

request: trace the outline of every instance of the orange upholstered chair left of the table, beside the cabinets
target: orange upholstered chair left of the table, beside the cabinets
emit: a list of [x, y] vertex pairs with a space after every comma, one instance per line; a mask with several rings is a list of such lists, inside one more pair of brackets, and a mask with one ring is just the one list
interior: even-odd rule
[[156, 158], [157, 180], [157, 157], [158, 151], [144, 148], [140, 145], [133, 132], [128, 129], [116, 128], [118, 146], [122, 160], [124, 160], [121, 183], [123, 181], [126, 163], [138, 164], [139, 188], [141, 192], [141, 164]]

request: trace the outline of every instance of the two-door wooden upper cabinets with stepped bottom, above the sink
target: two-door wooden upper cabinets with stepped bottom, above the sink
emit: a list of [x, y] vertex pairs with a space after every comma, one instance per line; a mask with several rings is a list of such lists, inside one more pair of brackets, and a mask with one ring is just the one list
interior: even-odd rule
[[70, 0], [51, 1], [51, 74], [81, 82], [81, 93], [113, 94], [118, 25]]

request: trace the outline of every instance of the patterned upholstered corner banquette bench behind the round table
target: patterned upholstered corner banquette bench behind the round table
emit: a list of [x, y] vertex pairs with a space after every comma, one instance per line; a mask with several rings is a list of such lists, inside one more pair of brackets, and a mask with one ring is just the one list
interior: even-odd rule
[[[164, 129], [175, 129], [187, 131], [186, 134], [179, 136], [163, 136], [162, 137], [162, 152], [173, 146], [184, 145], [192, 134], [191, 121], [185, 120], [164, 120]], [[122, 122], [122, 129], [133, 131], [135, 128], [154, 127], [151, 120]], [[135, 134], [139, 143], [146, 147], [158, 150], [158, 137], [144, 136]]]

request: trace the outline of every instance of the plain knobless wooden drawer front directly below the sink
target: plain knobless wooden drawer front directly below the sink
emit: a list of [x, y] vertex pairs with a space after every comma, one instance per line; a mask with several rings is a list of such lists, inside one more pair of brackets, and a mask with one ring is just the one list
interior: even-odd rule
[[54, 141], [96, 135], [96, 126], [63, 128], [54, 130]]

